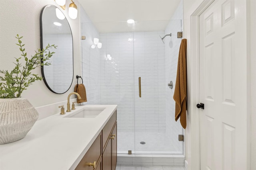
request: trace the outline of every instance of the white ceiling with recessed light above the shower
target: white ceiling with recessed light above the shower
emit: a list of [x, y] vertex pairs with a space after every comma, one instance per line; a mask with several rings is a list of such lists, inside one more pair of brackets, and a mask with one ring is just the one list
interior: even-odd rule
[[180, 0], [77, 0], [100, 33], [163, 31]]

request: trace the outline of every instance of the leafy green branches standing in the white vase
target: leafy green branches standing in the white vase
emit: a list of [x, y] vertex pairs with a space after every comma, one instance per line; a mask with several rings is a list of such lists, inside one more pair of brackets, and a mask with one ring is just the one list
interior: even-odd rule
[[[50, 52], [50, 48], [55, 48], [55, 45], [47, 45], [45, 49], [37, 49], [36, 54], [31, 56], [30, 59], [27, 57], [25, 52], [24, 45], [22, 44], [22, 36], [20, 37], [17, 34], [18, 45], [20, 51], [22, 52], [20, 58], [15, 58], [16, 63], [13, 70], [10, 72], [8, 70], [0, 70], [0, 98], [18, 98], [20, 97], [23, 90], [37, 80], [42, 80], [41, 76], [38, 74], [32, 74], [32, 70], [37, 67], [50, 65], [48, 60], [52, 57], [54, 52]], [[24, 59], [22, 62], [26, 62], [24, 66], [20, 63], [21, 59]]]

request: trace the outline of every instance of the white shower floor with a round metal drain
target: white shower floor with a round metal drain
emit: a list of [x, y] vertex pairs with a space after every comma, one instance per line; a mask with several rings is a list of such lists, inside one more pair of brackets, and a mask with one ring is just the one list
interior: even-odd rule
[[[117, 151], [128, 153], [128, 150], [136, 151], [136, 154], [173, 154], [183, 152], [182, 142], [173, 143], [174, 139], [165, 133], [118, 132]], [[177, 139], [178, 140], [178, 139]], [[141, 144], [145, 143], [145, 144]], [[178, 146], [177, 146], [178, 145]]]

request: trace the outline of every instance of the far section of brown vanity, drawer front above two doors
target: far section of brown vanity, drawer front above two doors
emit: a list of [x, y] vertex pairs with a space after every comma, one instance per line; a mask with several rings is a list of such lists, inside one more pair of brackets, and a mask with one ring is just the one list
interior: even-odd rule
[[[102, 167], [104, 170], [116, 169], [117, 156], [117, 133], [116, 133], [116, 111], [102, 129]], [[103, 135], [105, 134], [105, 135]], [[108, 135], [106, 135], [108, 134]]]

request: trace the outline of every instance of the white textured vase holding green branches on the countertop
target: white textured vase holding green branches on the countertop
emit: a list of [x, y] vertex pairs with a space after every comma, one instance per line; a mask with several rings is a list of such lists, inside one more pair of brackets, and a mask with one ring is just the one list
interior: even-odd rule
[[0, 99], [0, 144], [24, 138], [38, 116], [26, 98]]

